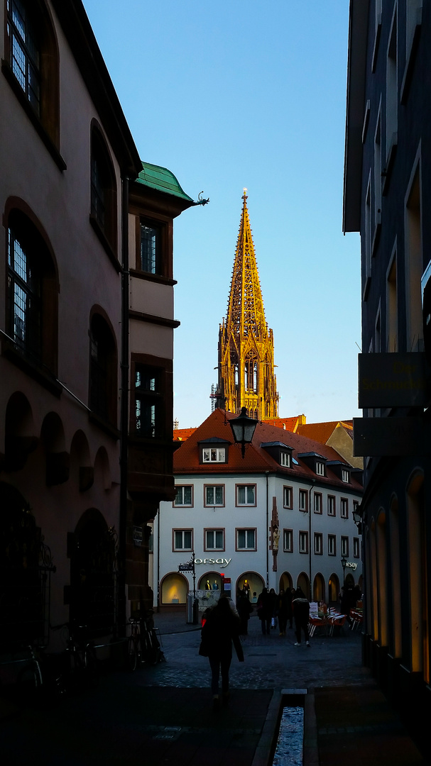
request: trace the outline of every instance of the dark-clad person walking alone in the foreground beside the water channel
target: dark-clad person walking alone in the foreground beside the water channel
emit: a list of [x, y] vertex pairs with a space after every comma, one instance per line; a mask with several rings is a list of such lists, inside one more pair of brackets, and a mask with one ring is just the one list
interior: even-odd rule
[[[239, 662], [244, 662], [241, 641], [239, 640], [239, 617], [233, 611], [230, 598], [222, 596], [209, 612], [206, 624], [202, 627], [202, 640], [199, 654], [208, 657], [211, 668], [212, 707], [219, 710], [219, 676], [222, 673], [222, 703], [229, 702], [229, 668], [232, 663], [232, 643]], [[235, 607], [234, 607], [235, 608]]]

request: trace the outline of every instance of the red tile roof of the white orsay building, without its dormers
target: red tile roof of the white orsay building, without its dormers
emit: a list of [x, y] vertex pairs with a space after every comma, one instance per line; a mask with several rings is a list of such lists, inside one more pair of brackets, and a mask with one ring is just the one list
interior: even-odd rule
[[[298, 453], [316, 452], [327, 460], [341, 460], [346, 463], [343, 457], [332, 447], [321, 444], [316, 440], [308, 439], [300, 434], [293, 434], [291, 431], [281, 433], [277, 426], [271, 426], [266, 423], [258, 423], [252, 444], [245, 447], [245, 457], [241, 456], [241, 448], [235, 445], [232, 436], [232, 430], [229, 421], [235, 414], [223, 410], [215, 410], [206, 418], [191, 436], [184, 441], [173, 456], [174, 473], [176, 475], [183, 473], [206, 473], [206, 475], [220, 473], [285, 473], [286, 480], [289, 476], [304, 477], [311, 480], [314, 478], [314, 472], [298, 459]], [[229, 462], [228, 463], [199, 463], [199, 442], [205, 442], [213, 437], [225, 440], [229, 444]], [[291, 468], [285, 468], [277, 463], [264, 447], [262, 443], [277, 441], [292, 448], [292, 456], [298, 460], [298, 465], [292, 465]], [[348, 463], [346, 463], [348, 465]], [[327, 469], [327, 476], [319, 476], [319, 482], [339, 484], [346, 486], [344, 482], [332, 473], [331, 468]], [[362, 491], [362, 486], [352, 478], [351, 486], [358, 491]]]

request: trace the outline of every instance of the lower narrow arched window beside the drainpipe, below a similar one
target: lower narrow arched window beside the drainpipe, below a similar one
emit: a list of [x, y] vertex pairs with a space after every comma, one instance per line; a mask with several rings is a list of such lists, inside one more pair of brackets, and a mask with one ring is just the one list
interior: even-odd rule
[[117, 351], [111, 329], [98, 313], [90, 325], [90, 409], [117, 424]]

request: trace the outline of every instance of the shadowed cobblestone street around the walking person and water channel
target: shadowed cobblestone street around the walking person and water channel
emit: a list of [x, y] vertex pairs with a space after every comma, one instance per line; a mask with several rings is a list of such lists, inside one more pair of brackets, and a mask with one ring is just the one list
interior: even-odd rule
[[230, 704], [215, 714], [200, 628], [183, 615], [155, 624], [166, 662], [103, 673], [97, 687], [41, 704], [0, 697], [2, 766], [271, 766], [287, 689], [307, 690], [304, 766], [425, 763], [361, 666], [360, 633], [294, 647], [293, 630], [264, 637], [252, 617]]

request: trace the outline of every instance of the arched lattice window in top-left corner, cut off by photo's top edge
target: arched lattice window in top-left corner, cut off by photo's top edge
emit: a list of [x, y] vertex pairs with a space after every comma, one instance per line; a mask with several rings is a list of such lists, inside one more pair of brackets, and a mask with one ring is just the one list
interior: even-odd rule
[[8, 82], [64, 169], [58, 155], [58, 43], [43, 0], [7, 0], [5, 60], [2, 70]]

